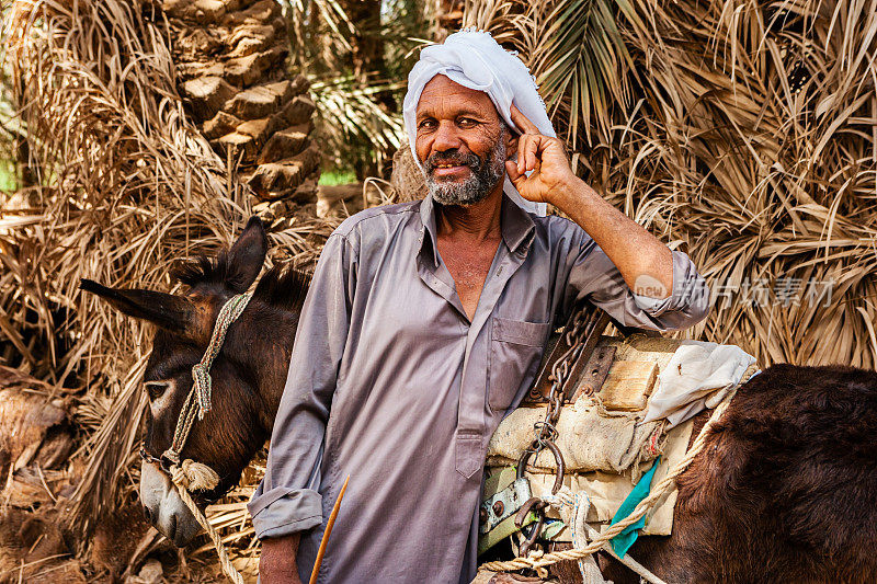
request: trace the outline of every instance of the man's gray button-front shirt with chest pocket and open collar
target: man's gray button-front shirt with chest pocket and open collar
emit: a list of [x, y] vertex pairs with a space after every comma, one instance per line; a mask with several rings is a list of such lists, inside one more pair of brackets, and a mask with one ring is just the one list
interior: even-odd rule
[[673, 252], [673, 293], [631, 294], [576, 224], [503, 196], [502, 243], [471, 321], [436, 249], [431, 197], [364, 210], [329, 238], [308, 291], [249, 504], [258, 537], [301, 531], [331, 583], [468, 583], [488, 440], [536, 376], [553, 328], [588, 297], [624, 325], [694, 324], [708, 289]]

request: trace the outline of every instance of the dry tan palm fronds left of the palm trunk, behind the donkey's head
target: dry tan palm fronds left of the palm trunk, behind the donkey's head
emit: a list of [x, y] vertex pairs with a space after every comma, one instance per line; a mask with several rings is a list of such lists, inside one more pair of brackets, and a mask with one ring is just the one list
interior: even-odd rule
[[[79, 280], [169, 290], [170, 263], [228, 244], [250, 196], [187, 119], [151, 2], [18, 0], [4, 16], [41, 174], [25, 204], [3, 208], [0, 354], [55, 385], [86, 386], [95, 398], [86, 405], [105, 406], [78, 453], [87, 468], [70, 522], [88, 530], [119, 488], [133, 488], [149, 343], [147, 327], [80, 294]], [[300, 261], [331, 230], [296, 218], [278, 226], [272, 237]], [[83, 423], [92, 410], [81, 409]]]

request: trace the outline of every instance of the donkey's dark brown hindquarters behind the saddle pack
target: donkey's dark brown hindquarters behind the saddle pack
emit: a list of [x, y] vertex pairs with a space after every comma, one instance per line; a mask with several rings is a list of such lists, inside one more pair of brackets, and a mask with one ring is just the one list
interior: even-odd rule
[[673, 535], [630, 556], [667, 582], [877, 582], [875, 432], [877, 371], [770, 367], [680, 477]]

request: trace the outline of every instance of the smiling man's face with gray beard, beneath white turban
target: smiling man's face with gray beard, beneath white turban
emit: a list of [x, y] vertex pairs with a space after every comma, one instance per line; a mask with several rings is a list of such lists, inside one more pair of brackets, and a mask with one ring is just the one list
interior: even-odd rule
[[502, 188], [512, 140], [487, 93], [435, 76], [423, 88], [414, 123], [418, 159], [437, 203], [471, 205]]

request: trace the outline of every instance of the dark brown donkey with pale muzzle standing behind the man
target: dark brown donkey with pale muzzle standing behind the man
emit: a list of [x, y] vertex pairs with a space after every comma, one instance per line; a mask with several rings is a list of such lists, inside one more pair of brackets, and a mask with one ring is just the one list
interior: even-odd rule
[[[253, 283], [265, 252], [257, 219], [227, 254], [180, 271], [185, 296], [83, 283], [158, 327], [144, 378], [149, 455], [170, 445], [219, 307]], [[306, 288], [298, 272], [270, 271], [228, 331], [213, 366], [213, 411], [195, 422], [182, 453], [221, 478], [202, 505], [239, 480], [271, 433]], [[771, 367], [740, 389], [682, 476], [674, 535], [641, 538], [631, 556], [668, 582], [877, 582], [876, 453], [877, 373]], [[178, 546], [198, 531], [153, 462], [144, 462], [140, 496]], [[604, 565], [616, 583], [638, 582]]]

